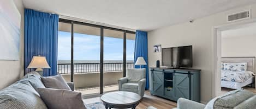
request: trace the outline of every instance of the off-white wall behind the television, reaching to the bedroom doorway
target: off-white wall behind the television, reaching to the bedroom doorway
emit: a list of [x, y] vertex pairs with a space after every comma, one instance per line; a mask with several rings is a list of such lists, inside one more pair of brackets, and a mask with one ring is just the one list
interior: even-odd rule
[[156, 66], [161, 60], [161, 53], [153, 53], [154, 44], [162, 44], [162, 48], [175, 46], [193, 46], [193, 68], [201, 69], [201, 101], [212, 98], [212, 28], [227, 24], [230, 12], [252, 9], [252, 18], [256, 18], [256, 4], [221, 12], [169, 27], [148, 32], [148, 65]]

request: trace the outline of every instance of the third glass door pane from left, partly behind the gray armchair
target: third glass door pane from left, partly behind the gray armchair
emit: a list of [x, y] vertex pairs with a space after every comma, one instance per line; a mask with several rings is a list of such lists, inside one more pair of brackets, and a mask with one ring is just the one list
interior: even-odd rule
[[104, 29], [104, 92], [118, 90], [123, 77], [123, 31]]

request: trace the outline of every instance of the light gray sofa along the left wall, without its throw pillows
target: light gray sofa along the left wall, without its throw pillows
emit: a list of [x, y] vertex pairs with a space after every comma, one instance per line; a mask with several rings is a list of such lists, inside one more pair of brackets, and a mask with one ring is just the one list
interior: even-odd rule
[[[68, 82], [74, 90], [74, 84]], [[0, 108], [6, 109], [47, 109], [35, 89], [44, 87], [37, 72], [28, 73], [21, 80], [0, 91]]]

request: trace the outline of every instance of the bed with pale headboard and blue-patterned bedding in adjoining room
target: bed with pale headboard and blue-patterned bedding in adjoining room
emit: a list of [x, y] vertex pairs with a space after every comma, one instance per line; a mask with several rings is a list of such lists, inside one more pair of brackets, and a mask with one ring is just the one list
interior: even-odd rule
[[[222, 57], [221, 87], [241, 89], [255, 81], [255, 57]], [[230, 70], [229, 64], [245, 65], [246, 69]], [[245, 64], [246, 63], [246, 64]], [[224, 67], [225, 66], [225, 67]], [[228, 67], [227, 67], [228, 66]], [[237, 66], [237, 65], [236, 65]]]

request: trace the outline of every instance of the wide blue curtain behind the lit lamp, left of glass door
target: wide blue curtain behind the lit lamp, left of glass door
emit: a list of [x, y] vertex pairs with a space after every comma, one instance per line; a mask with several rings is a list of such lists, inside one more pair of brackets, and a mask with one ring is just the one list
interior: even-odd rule
[[57, 74], [58, 15], [25, 9], [24, 25], [24, 69], [25, 74], [34, 69], [27, 66], [33, 56], [46, 56], [50, 69], [44, 76]]

